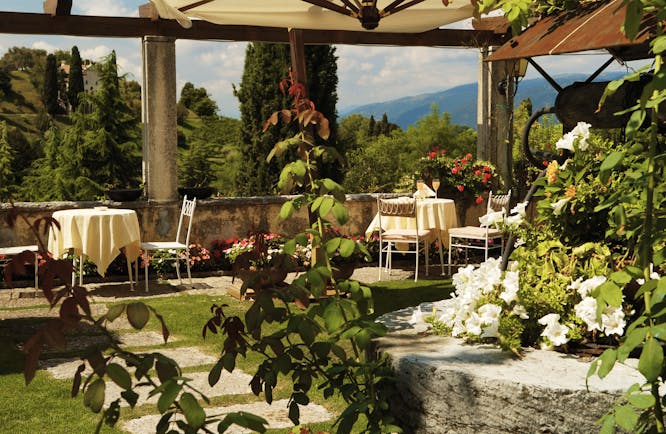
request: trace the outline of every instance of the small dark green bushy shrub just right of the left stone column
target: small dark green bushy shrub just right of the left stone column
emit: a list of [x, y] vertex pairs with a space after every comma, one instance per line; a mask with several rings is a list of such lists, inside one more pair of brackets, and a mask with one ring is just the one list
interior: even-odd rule
[[187, 197], [206, 199], [210, 197], [214, 189], [210, 183], [216, 177], [211, 172], [211, 162], [208, 159], [208, 147], [202, 141], [194, 141], [190, 149], [183, 155], [178, 165], [178, 179], [181, 187], [178, 192]]

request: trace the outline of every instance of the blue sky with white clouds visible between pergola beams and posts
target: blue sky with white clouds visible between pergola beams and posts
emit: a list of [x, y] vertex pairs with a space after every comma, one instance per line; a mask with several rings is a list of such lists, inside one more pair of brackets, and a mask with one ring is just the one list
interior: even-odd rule
[[[74, 0], [73, 14], [138, 16], [138, 7], [148, 0]], [[42, 12], [42, 0], [2, 0], [0, 10]], [[116, 50], [121, 73], [141, 81], [139, 39], [81, 38], [65, 36], [26, 36], [0, 34], [0, 56], [13, 46], [70, 50], [76, 45], [82, 57], [99, 60]], [[217, 101], [220, 114], [238, 117], [238, 101], [232, 84], [238, 84], [243, 71], [244, 42], [176, 42], [177, 86], [186, 82], [205, 87]], [[338, 110], [403, 96], [437, 92], [460, 84], [476, 82], [478, 50], [463, 48], [368, 47], [339, 45]], [[535, 59], [550, 75], [567, 72], [593, 72], [608, 54], [585, 53]], [[624, 70], [613, 64], [609, 70]], [[537, 77], [534, 68], [527, 77]], [[446, 107], [440, 107], [446, 111]], [[390, 114], [389, 114], [390, 117]]]

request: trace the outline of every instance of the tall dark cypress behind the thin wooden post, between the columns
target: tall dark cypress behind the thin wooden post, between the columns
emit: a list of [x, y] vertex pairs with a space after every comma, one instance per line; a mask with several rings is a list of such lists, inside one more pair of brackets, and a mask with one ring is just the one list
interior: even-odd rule
[[[331, 121], [331, 131], [334, 133], [338, 82], [335, 48], [308, 46], [305, 47], [305, 56], [310, 99]], [[277, 183], [283, 162], [293, 160], [293, 156], [286, 155], [268, 163], [266, 156], [275, 143], [297, 133], [297, 126], [294, 123], [280, 124], [279, 127], [270, 128], [265, 133], [261, 131], [263, 122], [271, 113], [290, 106], [290, 101], [284, 97], [278, 86], [280, 81], [287, 77], [290, 64], [287, 45], [266, 43], [248, 45], [241, 84], [235, 89], [240, 101], [241, 149], [244, 154], [236, 180], [239, 195], [275, 193], [274, 185]], [[327, 144], [335, 146], [334, 135]], [[330, 170], [325, 167], [322, 172], [327, 173]]]

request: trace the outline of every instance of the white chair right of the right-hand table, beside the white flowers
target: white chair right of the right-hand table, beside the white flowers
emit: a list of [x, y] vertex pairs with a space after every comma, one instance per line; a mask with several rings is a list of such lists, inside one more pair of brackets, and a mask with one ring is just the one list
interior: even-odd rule
[[[493, 194], [491, 191], [488, 194], [486, 215], [501, 212], [503, 220], [508, 214], [510, 201], [511, 190], [507, 194]], [[488, 253], [491, 250], [499, 249], [500, 254], [504, 253], [504, 232], [489, 224], [449, 229], [449, 275], [451, 274], [451, 252], [456, 248], [465, 249], [465, 263], [467, 263], [467, 253], [470, 249], [483, 250], [484, 260], [488, 260]]]

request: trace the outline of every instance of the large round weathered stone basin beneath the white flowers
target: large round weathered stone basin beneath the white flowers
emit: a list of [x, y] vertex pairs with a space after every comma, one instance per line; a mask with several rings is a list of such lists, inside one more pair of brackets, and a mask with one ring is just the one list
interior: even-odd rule
[[378, 342], [398, 378], [393, 408], [406, 432], [595, 433], [615, 399], [643, 382], [635, 369], [616, 365], [603, 380], [590, 378], [586, 389], [590, 358], [528, 349], [520, 360], [493, 345], [426, 333], [409, 324], [412, 312], [382, 316], [391, 331]]

